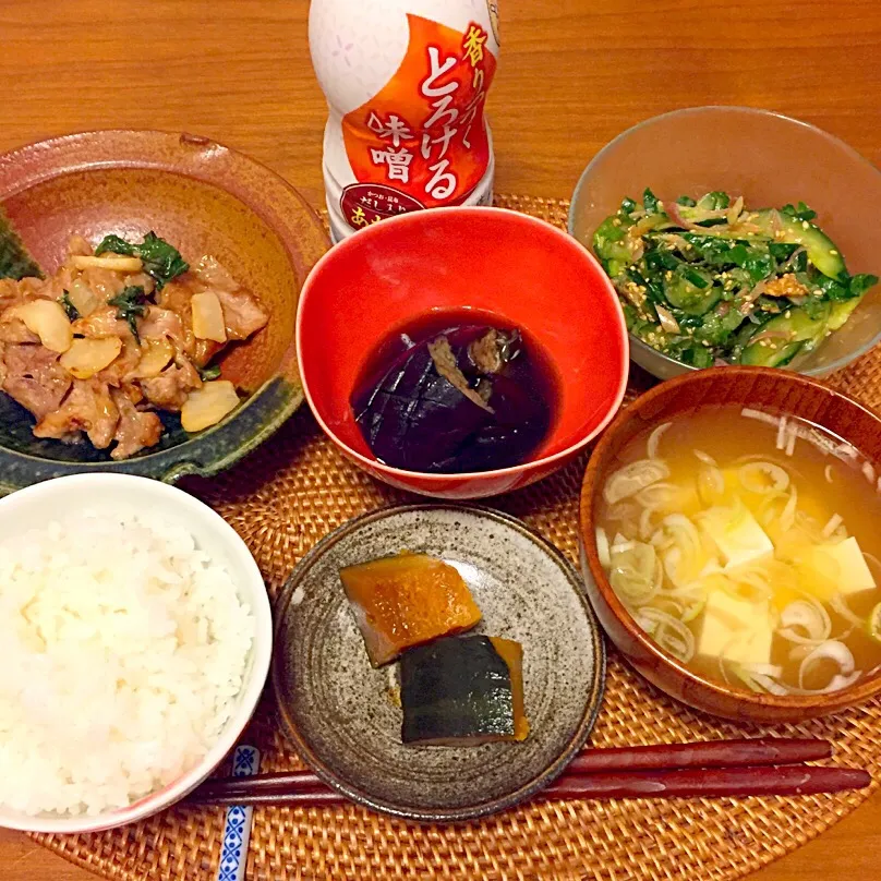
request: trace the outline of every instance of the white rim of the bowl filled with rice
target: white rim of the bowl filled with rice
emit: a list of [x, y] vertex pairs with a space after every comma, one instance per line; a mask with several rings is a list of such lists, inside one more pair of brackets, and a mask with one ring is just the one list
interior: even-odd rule
[[[63, 483], [63, 486], [59, 484]], [[242, 681], [239, 695], [241, 703], [227, 721], [220, 736], [202, 759], [184, 774], [160, 789], [138, 798], [125, 808], [104, 811], [95, 816], [36, 816], [31, 817], [21, 811], [13, 811], [0, 805], [0, 811], [8, 811], [12, 817], [0, 814], [0, 828], [14, 829], [22, 832], [45, 832], [74, 834], [100, 832], [125, 825], [158, 813], [180, 801], [198, 784], [206, 780], [220, 764], [224, 758], [236, 746], [251, 716], [256, 710], [263, 688], [266, 684], [271, 662], [273, 618], [269, 596], [260, 567], [254, 560], [248, 545], [238, 532], [217, 512], [201, 499], [162, 481], [135, 474], [119, 474], [109, 471], [89, 474], [68, 474], [61, 478], [35, 483], [0, 498], [0, 511], [9, 514], [23, 502], [44, 499], [51, 509], [52, 497], [59, 490], [82, 484], [88, 492], [96, 483], [121, 486], [131, 497], [146, 502], [167, 500], [170, 507], [178, 510], [181, 521], [201, 520], [208, 529], [216, 532], [230, 556], [239, 558], [243, 569], [250, 570], [248, 580], [253, 587], [253, 600], [248, 604], [254, 617], [254, 638], [251, 644], [251, 671], [248, 679]]]

